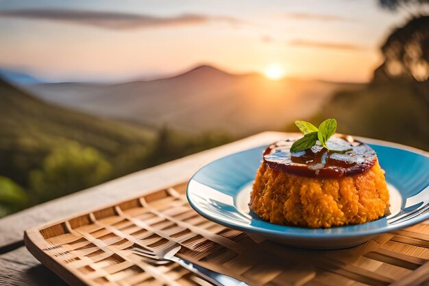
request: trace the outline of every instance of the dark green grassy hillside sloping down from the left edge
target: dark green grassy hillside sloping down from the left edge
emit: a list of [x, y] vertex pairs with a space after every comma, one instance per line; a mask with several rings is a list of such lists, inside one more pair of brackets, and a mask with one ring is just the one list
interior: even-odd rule
[[75, 141], [112, 162], [147, 147], [155, 132], [46, 104], [0, 79], [0, 175], [25, 185], [51, 150]]

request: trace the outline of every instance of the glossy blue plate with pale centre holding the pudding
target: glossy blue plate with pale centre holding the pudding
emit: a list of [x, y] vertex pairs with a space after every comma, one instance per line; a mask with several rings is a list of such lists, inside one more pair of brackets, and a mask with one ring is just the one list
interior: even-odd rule
[[187, 197], [200, 215], [213, 222], [290, 246], [334, 249], [356, 246], [380, 233], [429, 219], [428, 152], [394, 143], [358, 138], [376, 151], [386, 171], [391, 215], [374, 222], [334, 228], [302, 228], [266, 222], [249, 210], [249, 193], [262, 152], [238, 152], [202, 167], [188, 183]]

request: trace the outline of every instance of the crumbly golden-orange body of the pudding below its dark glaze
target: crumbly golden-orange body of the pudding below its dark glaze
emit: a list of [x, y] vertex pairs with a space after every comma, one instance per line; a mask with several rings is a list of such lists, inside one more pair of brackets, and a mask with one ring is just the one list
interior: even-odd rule
[[249, 204], [274, 224], [330, 228], [371, 222], [389, 211], [389, 191], [378, 161], [363, 174], [308, 178], [262, 163]]

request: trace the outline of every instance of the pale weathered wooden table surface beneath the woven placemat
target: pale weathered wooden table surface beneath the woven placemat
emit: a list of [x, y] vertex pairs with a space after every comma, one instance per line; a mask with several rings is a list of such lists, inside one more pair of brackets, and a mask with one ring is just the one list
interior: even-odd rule
[[251, 147], [267, 145], [282, 138], [284, 133], [280, 132], [256, 134], [212, 150], [138, 171], [0, 219], [0, 285], [66, 285], [27, 251], [23, 242], [24, 230], [53, 219], [184, 182], [212, 160]]

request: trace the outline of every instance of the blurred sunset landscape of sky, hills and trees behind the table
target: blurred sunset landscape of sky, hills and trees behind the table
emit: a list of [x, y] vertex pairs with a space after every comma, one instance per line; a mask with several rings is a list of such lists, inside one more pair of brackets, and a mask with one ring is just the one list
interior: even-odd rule
[[0, 217], [293, 121], [429, 150], [429, 1], [0, 0]]

